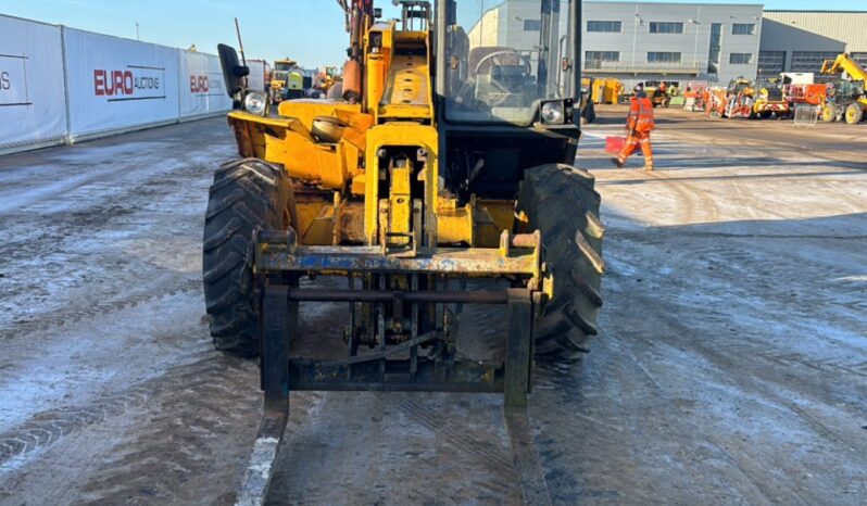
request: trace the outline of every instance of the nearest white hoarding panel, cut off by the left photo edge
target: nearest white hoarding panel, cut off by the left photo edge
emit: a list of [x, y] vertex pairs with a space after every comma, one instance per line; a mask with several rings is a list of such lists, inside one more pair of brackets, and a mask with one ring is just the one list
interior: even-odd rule
[[60, 27], [0, 15], [0, 153], [65, 136]]

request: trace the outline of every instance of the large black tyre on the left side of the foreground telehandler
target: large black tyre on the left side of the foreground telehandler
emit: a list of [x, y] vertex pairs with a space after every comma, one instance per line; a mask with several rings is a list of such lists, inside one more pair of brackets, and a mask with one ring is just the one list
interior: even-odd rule
[[236, 160], [214, 173], [204, 222], [202, 277], [217, 350], [246, 357], [259, 353], [253, 231], [287, 229], [291, 202], [282, 168], [261, 160]]

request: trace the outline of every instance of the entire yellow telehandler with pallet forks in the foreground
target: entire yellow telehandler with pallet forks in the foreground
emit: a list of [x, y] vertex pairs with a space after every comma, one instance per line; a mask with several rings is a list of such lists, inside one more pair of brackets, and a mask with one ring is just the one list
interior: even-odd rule
[[[265, 395], [239, 502], [266, 493], [293, 390], [499, 392], [525, 497], [544, 495], [513, 431], [528, 427], [533, 357], [580, 357], [602, 305], [600, 198], [573, 166], [580, 0], [525, 1], [533, 38], [482, 26], [480, 0], [403, 0], [400, 21], [339, 3], [340, 100], [271, 115], [218, 48], [240, 159], [210, 190], [204, 294], [216, 347], [257, 354]], [[299, 304], [323, 302], [343, 322], [299, 332]], [[505, 306], [483, 356], [458, 332], [473, 304]]]

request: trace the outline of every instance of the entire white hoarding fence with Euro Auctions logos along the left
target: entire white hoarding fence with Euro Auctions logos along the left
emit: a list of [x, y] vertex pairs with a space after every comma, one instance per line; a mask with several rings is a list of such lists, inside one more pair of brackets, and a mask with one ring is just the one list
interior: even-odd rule
[[[248, 60], [265, 89], [265, 62]], [[231, 110], [219, 58], [0, 14], [0, 154]]]

